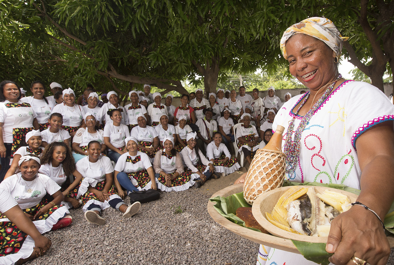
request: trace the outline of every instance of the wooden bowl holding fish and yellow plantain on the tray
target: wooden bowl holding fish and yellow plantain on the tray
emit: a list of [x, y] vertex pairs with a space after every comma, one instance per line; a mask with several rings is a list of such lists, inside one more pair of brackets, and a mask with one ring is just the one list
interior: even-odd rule
[[[266, 212], [271, 213], [273, 207], [279, 200], [279, 197], [290, 189], [292, 186], [288, 187], [282, 187], [282, 188], [276, 188], [274, 190], [267, 191], [265, 193], [262, 193], [257, 197], [255, 202], [253, 203], [252, 206], [252, 213], [253, 216], [256, 218], [257, 222], [264, 228], [266, 229], [269, 233], [282, 237], [282, 238], [288, 238], [288, 239], [294, 239], [298, 241], [306, 241], [306, 242], [312, 242], [312, 243], [327, 243], [327, 237], [318, 237], [318, 236], [304, 236], [304, 235], [299, 235], [299, 234], [294, 234], [292, 232], [287, 232], [271, 223], [266, 219]], [[312, 186], [300, 186], [302, 188], [309, 188]], [[335, 191], [338, 193], [342, 193], [350, 199], [351, 202], [357, 201], [357, 198], [359, 197], [358, 195], [348, 192], [348, 191], [343, 191], [343, 190], [338, 190], [334, 188], [326, 188], [326, 187], [319, 187], [319, 186], [313, 186], [315, 188], [316, 193], [322, 193], [325, 190], [331, 190]]]

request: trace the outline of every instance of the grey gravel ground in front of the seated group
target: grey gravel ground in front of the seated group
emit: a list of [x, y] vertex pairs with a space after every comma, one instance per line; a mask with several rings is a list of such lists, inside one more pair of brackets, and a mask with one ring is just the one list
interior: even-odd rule
[[[105, 226], [89, 224], [82, 209], [71, 210], [72, 225], [46, 233], [52, 247], [26, 264], [255, 265], [258, 244], [218, 225], [206, 209], [211, 195], [239, 176], [209, 180], [198, 190], [162, 192], [130, 219], [108, 208], [102, 212]], [[182, 212], [176, 213], [178, 207]], [[393, 250], [388, 264], [394, 264]]]

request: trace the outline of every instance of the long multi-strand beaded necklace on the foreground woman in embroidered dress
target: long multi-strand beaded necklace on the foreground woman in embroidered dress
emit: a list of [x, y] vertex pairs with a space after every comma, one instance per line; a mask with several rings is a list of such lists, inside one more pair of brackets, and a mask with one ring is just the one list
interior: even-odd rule
[[[323, 101], [329, 96], [331, 93], [331, 90], [334, 88], [336, 81], [342, 78], [342, 75], [339, 74], [336, 80], [329, 85], [327, 90], [323, 93], [323, 95], [314, 103], [314, 105], [308, 110], [308, 112], [301, 117], [301, 121], [294, 132], [294, 121], [296, 120], [293, 118], [291, 121], [289, 121], [289, 127], [287, 129], [287, 136], [286, 136], [286, 142], [284, 143], [283, 147], [283, 152], [286, 154], [286, 172], [292, 173], [296, 170], [297, 167], [297, 162], [299, 158], [299, 153], [300, 153], [300, 145], [301, 145], [301, 134], [303, 133], [305, 127], [309, 123], [310, 118], [312, 118], [313, 114], [315, 111], [322, 105]], [[324, 86], [322, 86], [323, 88]], [[320, 89], [322, 89], [320, 88]], [[317, 93], [316, 93], [317, 94]], [[308, 98], [310, 95], [310, 91], [307, 92], [305, 98], [301, 102], [301, 105], [299, 105], [297, 111], [295, 114], [297, 115], [299, 110], [303, 107], [305, 102], [307, 102]], [[313, 103], [314, 99], [312, 100]], [[294, 132], [294, 141], [292, 140]]]

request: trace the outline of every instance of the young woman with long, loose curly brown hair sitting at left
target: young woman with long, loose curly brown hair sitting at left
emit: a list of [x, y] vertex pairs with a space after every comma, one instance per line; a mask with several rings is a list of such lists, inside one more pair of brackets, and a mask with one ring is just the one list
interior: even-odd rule
[[[78, 189], [82, 181], [82, 175], [76, 170], [74, 158], [70, 147], [65, 142], [53, 142], [45, 147], [41, 155], [41, 167], [39, 173], [47, 175], [60, 187], [64, 195], [64, 204], [67, 208], [78, 208], [80, 193]], [[74, 181], [70, 181], [74, 176]]]

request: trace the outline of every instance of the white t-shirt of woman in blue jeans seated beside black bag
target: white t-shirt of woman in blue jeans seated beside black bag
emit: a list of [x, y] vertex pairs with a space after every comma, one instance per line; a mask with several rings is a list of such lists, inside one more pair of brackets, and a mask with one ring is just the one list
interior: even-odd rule
[[[139, 161], [133, 161], [136, 160], [137, 156], [140, 156], [140, 159], [137, 159]], [[133, 162], [126, 162], [126, 160]], [[145, 153], [138, 151], [136, 156], [131, 156], [128, 152], [119, 156], [118, 162], [115, 166], [115, 170], [118, 172], [129, 173], [142, 171], [148, 169], [149, 167], [152, 167], [151, 159], [149, 158], [149, 156]]]

